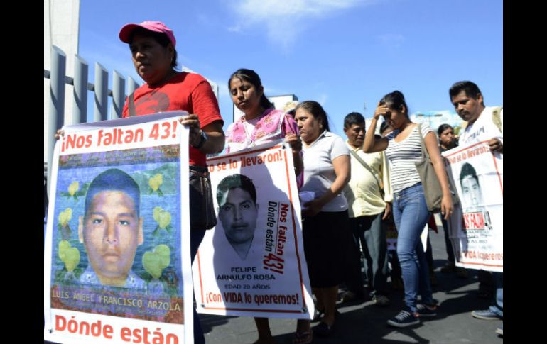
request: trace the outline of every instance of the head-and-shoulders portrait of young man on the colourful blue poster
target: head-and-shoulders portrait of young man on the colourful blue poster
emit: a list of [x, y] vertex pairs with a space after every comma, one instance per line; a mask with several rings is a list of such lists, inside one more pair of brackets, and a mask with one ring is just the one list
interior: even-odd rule
[[112, 168], [92, 180], [78, 223], [78, 238], [89, 259], [81, 283], [146, 287], [131, 270], [137, 246], [144, 241], [140, 199], [139, 185], [122, 170]]

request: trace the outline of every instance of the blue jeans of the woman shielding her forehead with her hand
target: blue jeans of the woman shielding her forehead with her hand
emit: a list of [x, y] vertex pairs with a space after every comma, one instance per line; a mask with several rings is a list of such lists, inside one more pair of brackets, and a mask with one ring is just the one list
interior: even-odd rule
[[397, 255], [403, 274], [405, 305], [412, 312], [416, 311], [418, 292], [423, 303], [433, 304], [428, 262], [420, 239], [430, 216], [421, 183], [394, 193], [393, 217], [399, 233]]

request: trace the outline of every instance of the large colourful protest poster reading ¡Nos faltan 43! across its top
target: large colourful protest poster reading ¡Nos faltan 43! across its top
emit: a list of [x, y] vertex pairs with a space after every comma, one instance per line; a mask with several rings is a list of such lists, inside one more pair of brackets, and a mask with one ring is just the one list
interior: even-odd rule
[[44, 340], [193, 343], [188, 129], [178, 121], [186, 114], [63, 128], [45, 238]]

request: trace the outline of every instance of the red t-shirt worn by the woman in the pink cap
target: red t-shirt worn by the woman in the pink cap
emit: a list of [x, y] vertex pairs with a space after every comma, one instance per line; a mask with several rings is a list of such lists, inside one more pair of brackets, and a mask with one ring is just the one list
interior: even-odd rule
[[[221, 125], [224, 123], [211, 85], [199, 74], [182, 72], [158, 87], [143, 84], [135, 90], [134, 102], [136, 116], [159, 111], [185, 110], [188, 113], [197, 114], [201, 128], [214, 121], [221, 121]], [[127, 99], [122, 117], [129, 117]], [[188, 147], [190, 148], [190, 165], [205, 166], [205, 154], [191, 145]]]

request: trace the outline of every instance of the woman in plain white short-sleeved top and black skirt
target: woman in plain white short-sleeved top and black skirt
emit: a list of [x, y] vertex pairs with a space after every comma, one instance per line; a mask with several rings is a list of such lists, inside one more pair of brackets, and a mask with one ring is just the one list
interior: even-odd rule
[[303, 204], [302, 233], [310, 284], [317, 309], [324, 316], [313, 332], [329, 336], [335, 322], [338, 284], [344, 249], [352, 240], [347, 201], [342, 190], [350, 181], [350, 150], [329, 132], [327, 113], [317, 101], [296, 106], [296, 123], [303, 141], [304, 184], [300, 191], [315, 199]]

